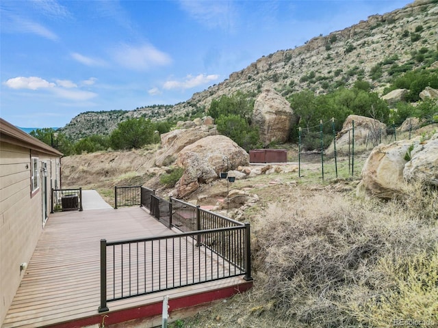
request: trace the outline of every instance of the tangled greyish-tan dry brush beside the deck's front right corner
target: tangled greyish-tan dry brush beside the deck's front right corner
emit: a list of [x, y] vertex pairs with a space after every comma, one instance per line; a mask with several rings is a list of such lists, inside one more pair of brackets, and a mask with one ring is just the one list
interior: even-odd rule
[[255, 269], [276, 316], [308, 327], [366, 324], [350, 305], [369, 304], [369, 290], [391, 290], [381, 260], [415, 257], [437, 244], [437, 193], [415, 190], [403, 203], [320, 193], [272, 204], [255, 226]]

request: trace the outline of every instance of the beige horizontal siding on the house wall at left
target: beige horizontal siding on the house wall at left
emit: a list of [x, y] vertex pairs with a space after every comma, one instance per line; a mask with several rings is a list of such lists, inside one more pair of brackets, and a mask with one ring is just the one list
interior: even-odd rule
[[[31, 197], [31, 156], [47, 161], [48, 168], [55, 163], [51, 156], [0, 143], [0, 325], [24, 275], [20, 264], [29, 262], [42, 232], [42, 180]], [[49, 174], [54, 180], [55, 169]], [[48, 176], [48, 213], [50, 188]]]

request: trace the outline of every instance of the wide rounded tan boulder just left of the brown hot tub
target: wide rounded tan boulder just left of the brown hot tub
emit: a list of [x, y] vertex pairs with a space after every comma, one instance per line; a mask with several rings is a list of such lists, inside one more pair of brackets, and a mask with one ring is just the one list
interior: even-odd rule
[[177, 182], [176, 196], [185, 197], [199, 184], [219, 177], [220, 172], [249, 164], [249, 154], [224, 135], [212, 135], [185, 146], [178, 154], [177, 165], [184, 168]]

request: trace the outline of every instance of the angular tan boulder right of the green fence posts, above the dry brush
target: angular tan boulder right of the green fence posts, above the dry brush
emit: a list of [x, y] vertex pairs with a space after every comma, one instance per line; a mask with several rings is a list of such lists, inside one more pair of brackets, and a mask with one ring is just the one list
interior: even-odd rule
[[362, 169], [358, 195], [383, 199], [396, 197], [402, 191], [405, 155], [413, 141], [402, 140], [374, 147]]

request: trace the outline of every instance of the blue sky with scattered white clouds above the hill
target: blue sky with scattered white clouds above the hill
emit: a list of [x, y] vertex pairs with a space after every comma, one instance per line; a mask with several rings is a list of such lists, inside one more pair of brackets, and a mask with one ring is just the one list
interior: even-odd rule
[[0, 2], [0, 116], [61, 127], [83, 111], [174, 105], [263, 55], [405, 0]]

